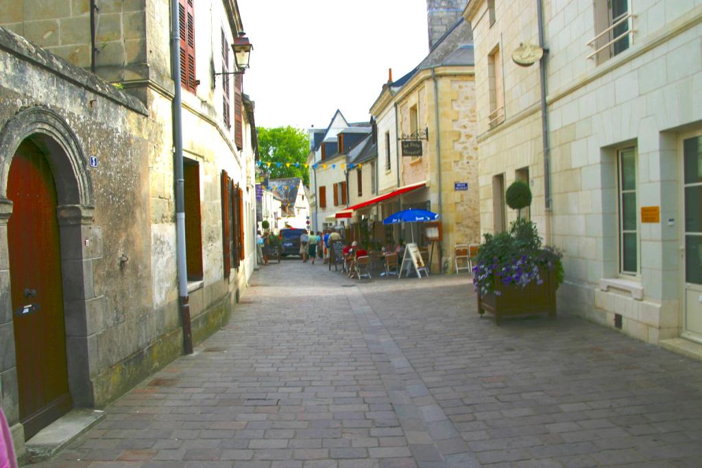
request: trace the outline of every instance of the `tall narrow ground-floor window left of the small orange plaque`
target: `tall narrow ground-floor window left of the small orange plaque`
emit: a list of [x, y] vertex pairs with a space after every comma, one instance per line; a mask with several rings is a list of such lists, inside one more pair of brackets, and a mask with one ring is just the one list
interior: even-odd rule
[[639, 272], [639, 222], [636, 193], [636, 151], [618, 153], [619, 261], [623, 274]]

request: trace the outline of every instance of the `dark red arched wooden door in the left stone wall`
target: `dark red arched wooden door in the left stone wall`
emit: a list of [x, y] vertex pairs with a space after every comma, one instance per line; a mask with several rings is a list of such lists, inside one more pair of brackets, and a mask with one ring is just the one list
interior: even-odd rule
[[32, 142], [23, 142], [13, 158], [7, 194], [13, 202], [7, 236], [20, 421], [29, 439], [72, 408], [56, 187]]

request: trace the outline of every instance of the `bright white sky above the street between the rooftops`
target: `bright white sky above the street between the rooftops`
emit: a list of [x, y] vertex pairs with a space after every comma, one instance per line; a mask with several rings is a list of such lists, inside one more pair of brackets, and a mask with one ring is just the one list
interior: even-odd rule
[[367, 121], [388, 81], [428, 53], [426, 0], [238, 0], [253, 45], [244, 93], [256, 125]]

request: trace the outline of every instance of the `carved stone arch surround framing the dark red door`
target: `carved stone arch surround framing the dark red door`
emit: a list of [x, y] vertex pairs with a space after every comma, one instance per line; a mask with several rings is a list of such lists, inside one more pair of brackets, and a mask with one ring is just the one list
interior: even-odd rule
[[[85, 239], [95, 239], [100, 228], [93, 226], [93, 185], [88, 173], [83, 145], [69, 124], [58, 113], [46, 107], [30, 107], [15, 114], [0, 131], [0, 308], [8, 311], [12, 326], [10, 265], [8, 258], [7, 223], [13, 205], [8, 200], [10, 167], [20, 144], [30, 140], [46, 156], [55, 181], [58, 201], [57, 218], [60, 231], [61, 269], [64, 290], [65, 331], [69, 390], [76, 406], [93, 406], [90, 381], [91, 361], [95, 361], [95, 337], [91, 339], [88, 310], [95, 297], [92, 260], [85, 259]], [[98, 242], [100, 241], [98, 235]], [[94, 248], [92, 249], [94, 250]], [[101, 248], [100, 248], [101, 250]], [[94, 255], [93, 255], [94, 256]], [[5, 324], [7, 325], [7, 323]], [[0, 323], [0, 326], [3, 326]], [[13, 335], [10, 335], [12, 337]], [[0, 360], [9, 361], [8, 369], [0, 369], [12, 377], [11, 388], [3, 393], [11, 396], [4, 408], [11, 424], [19, 421], [18, 386], [14, 340], [5, 348]], [[3, 353], [0, 349], [0, 353]], [[11, 406], [8, 408], [7, 406]]]

